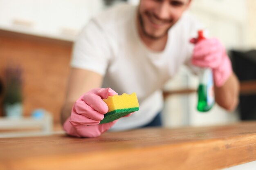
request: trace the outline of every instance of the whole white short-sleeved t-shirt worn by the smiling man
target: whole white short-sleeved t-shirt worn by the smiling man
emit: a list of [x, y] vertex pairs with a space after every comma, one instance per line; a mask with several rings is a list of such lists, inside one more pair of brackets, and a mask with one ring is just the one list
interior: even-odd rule
[[[189, 13], [168, 31], [166, 47], [154, 52], [141, 41], [136, 27], [137, 7], [122, 4], [103, 11], [84, 27], [73, 49], [71, 66], [104, 76], [104, 88], [119, 95], [137, 93], [139, 111], [111, 128], [126, 130], [149, 123], [163, 106], [162, 87], [190, 57], [202, 26]], [[83, 77], [81, 77], [83, 78]]]

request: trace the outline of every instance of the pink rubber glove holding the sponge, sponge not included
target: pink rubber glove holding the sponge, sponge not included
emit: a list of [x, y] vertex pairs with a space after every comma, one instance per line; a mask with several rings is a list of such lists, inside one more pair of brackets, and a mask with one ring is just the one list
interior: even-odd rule
[[108, 112], [108, 106], [102, 99], [117, 95], [111, 88], [94, 88], [75, 102], [71, 116], [63, 128], [67, 134], [76, 137], [97, 137], [115, 124], [115, 121], [99, 124]]

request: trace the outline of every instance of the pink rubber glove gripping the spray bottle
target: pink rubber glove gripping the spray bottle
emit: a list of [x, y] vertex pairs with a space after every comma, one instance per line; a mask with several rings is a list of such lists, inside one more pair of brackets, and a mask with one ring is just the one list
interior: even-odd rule
[[200, 41], [193, 38], [190, 42], [195, 44], [192, 64], [203, 68], [211, 68], [215, 86], [223, 86], [232, 73], [231, 62], [224, 46], [216, 38]]

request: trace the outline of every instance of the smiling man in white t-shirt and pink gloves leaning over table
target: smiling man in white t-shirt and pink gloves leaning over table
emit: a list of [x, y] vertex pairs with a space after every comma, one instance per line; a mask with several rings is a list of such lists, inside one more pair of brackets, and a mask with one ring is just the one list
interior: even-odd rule
[[[184, 13], [190, 3], [141, 0], [138, 7], [117, 6], [90, 20], [74, 46], [61, 114], [69, 135], [96, 137], [111, 127], [125, 130], [160, 125], [161, 88], [182, 64], [193, 70], [191, 56], [194, 65], [213, 70], [216, 102], [227, 110], [236, 107], [238, 80], [225, 48], [216, 39], [195, 46], [189, 42], [202, 28]], [[138, 112], [99, 124], [108, 112], [102, 99], [132, 92], [139, 99]]]

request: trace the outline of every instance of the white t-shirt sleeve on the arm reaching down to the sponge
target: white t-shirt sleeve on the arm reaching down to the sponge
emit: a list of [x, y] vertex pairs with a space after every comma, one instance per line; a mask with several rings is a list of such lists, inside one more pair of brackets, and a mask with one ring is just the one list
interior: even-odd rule
[[110, 40], [96, 20], [90, 20], [74, 43], [71, 67], [105, 75], [111, 57]]

